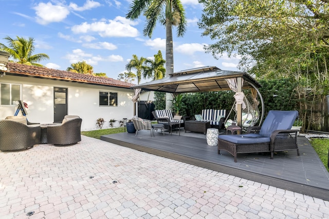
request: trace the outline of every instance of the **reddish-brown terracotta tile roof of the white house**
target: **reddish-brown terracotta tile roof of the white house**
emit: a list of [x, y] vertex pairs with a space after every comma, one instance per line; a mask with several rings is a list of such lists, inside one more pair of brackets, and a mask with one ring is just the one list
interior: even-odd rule
[[9, 72], [11, 75], [32, 76], [48, 79], [59, 79], [68, 82], [80, 82], [86, 84], [96, 84], [113, 87], [130, 88], [134, 84], [119, 81], [109, 77], [99, 77], [90, 74], [79, 74], [69, 71], [62, 71], [50, 68], [42, 68], [36, 66], [28, 66], [18, 63], [8, 63]]

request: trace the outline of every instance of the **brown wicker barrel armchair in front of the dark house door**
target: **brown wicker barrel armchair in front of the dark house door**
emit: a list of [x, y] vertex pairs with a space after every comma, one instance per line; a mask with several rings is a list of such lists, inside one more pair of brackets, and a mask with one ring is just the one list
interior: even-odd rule
[[47, 143], [68, 146], [81, 142], [82, 118], [72, 118], [60, 126], [47, 127]]

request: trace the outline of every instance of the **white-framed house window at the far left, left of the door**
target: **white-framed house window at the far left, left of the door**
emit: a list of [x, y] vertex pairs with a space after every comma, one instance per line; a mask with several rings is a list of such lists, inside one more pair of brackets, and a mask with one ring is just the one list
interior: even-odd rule
[[21, 100], [22, 85], [0, 83], [0, 105], [17, 105]]

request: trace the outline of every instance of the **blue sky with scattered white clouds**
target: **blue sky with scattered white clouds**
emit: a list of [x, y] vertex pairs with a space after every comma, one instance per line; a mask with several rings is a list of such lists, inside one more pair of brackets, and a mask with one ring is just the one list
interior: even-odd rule
[[[6, 36], [33, 37], [35, 53], [46, 53], [50, 59], [41, 64], [66, 70], [72, 63], [86, 61], [94, 72], [118, 78], [133, 54], [153, 57], [161, 50], [166, 57], [165, 27], [157, 24], [152, 38], [143, 36], [144, 17], [136, 21], [125, 18], [132, 0], [26, 1], [0, 0], [0, 42]], [[174, 38], [174, 72], [203, 66], [237, 70], [237, 58], [223, 54], [215, 59], [203, 46], [211, 44], [202, 37], [197, 22], [202, 5], [197, 0], [181, 0], [188, 21], [184, 37]], [[142, 82], [151, 79], [142, 79]], [[137, 80], [133, 83], [137, 84]]]

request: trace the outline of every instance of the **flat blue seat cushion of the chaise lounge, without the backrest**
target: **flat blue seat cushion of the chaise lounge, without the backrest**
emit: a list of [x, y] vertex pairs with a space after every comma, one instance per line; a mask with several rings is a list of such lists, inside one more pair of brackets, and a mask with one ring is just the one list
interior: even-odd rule
[[259, 134], [219, 135], [218, 139], [234, 144], [270, 143], [270, 138]]

